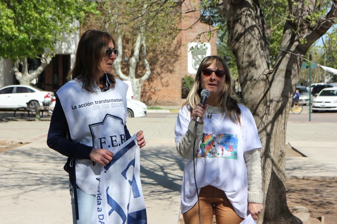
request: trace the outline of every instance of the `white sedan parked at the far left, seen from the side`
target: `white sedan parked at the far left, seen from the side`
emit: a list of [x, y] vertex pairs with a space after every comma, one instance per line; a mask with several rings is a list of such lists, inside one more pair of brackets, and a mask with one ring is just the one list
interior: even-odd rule
[[[30, 85], [7, 85], [0, 88], [0, 109], [49, 106], [54, 93]], [[27, 104], [28, 103], [28, 104]]]

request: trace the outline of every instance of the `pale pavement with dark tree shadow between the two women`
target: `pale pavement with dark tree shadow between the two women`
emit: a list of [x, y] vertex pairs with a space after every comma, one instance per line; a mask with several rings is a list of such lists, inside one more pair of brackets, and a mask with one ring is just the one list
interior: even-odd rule
[[185, 161], [175, 150], [176, 114], [165, 118], [132, 118], [130, 134], [144, 130], [146, 147], [141, 149], [141, 180], [148, 224], [178, 222], [180, 189]]

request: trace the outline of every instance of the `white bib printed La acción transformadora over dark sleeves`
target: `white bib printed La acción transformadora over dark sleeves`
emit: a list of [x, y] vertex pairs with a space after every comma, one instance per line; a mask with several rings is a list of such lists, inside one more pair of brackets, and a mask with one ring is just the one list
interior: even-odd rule
[[[116, 79], [116, 85], [105, 92], [90, 93], [82, 82], [65, 83], [57, 95], [69, 126], [71, 140], [93, 148], [113, 149], [126, 142], [127, 84]], [[77, 159], [76, 183], [87, 194], [97, 193], [96, 178], [102, 165], [91, 160]]]

